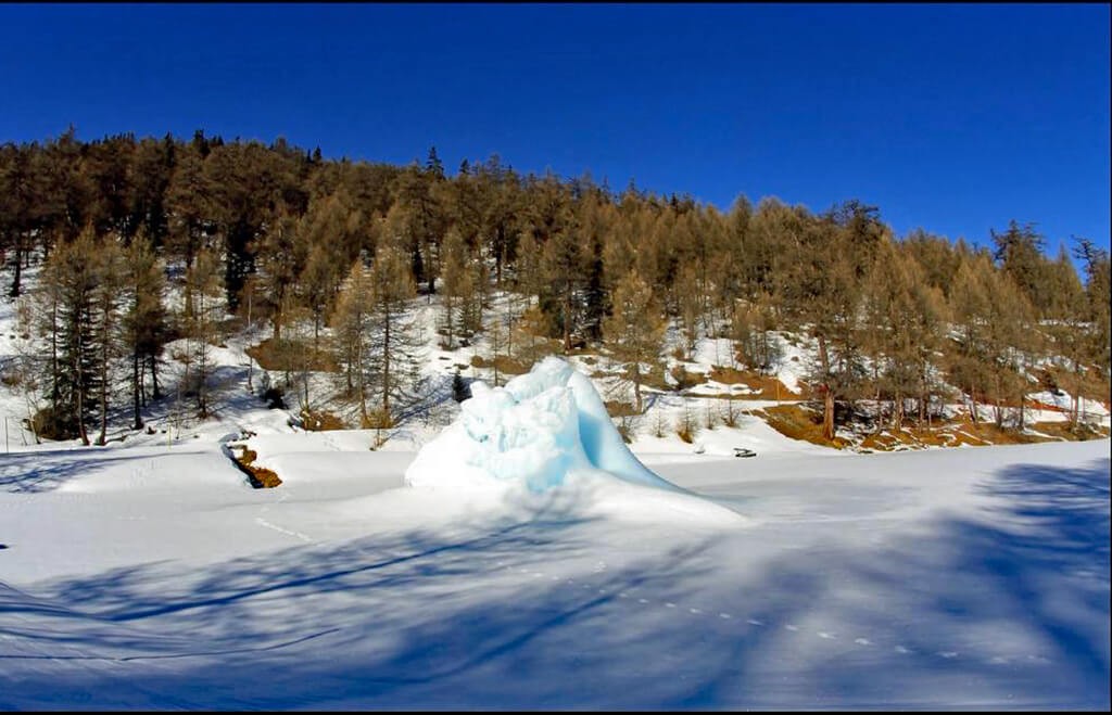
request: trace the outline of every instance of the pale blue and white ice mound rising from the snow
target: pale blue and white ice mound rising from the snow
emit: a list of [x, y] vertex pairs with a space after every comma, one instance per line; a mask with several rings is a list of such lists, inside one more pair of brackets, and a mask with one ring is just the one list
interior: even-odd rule
[[585, 375], [545, 358], [504, 387], [471, 384], [461, 413], [406, 471], [409, 486], [524, 483], [540, 492], [576, 475], [613, 476], [683, 492], [633, 455]]

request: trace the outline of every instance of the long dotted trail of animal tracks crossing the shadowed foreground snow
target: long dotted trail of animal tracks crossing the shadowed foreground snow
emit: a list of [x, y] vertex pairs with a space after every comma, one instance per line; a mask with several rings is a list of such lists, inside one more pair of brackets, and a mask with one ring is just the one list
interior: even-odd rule
[[[823, 640], [823, 641], [831, 641], [831, 642], [842, 642], [843, 641], [843, 637], [840, 636], [838, 633], [835, 632], [835, 631], [827, 631], [827, 630], [811, 631], [811, 630], [805, 628], [805, 627], [803, 627], [803, 626], [801, 626], [798, 624], [795, 624], [795, 623], [784, 623], [784, 624], [780, 624], [777, 626], [777, 624], [775, 624], [775, 623], [767, 623], [764, 620], [755, 618], [755, 617], [752, 617], [752, 616], [746, 616], [745, 614], [737, 614], [737, 613], [729, 613], [727, 611], [716, 611], [716, 610], [713, 610], [713, 608], [691, 606], [691, 605], [686, 605], [686, 604], [678, 603], [678, 602], [675, 602], [675, 601], [665, 601], [663, 598], [657, 598], [657, 600], [646, 598], [646, 597], [639, 596], [639, 595], [637, 595], [635, 593], [631, 593], [629, 591], [620, 591], [620, 590], [600, 587], [600, 586], [597, 586], [597, 585], [590, 583], [589, 581], [585, 581], [582, 577], [580, 577], [579, 581], [576, 581], [575, 578], [573, 578], [570, 576], [559, 576], [559, 575], [550, 575], [549, 576], [548, 574], [546, 574], [545, 572], [542, 572], [542, 571], [536, 571], [536, 570], [533, 570], [533, 568], [515, 567], [515, 566], [507, 565], [505, 562], [500, 562], [500, 561], [498, 562], [498, 566], [502, 570], [506, 571], [506, 572], [520, 574], [523, 577], [528, 578], [529, 581], [532, 581], [534, 578], [544, 578], [544, 577], [547, 576], [548, 578], [550, 578], [554, 582], [558, 582], [558, 583], [562, 582], [564, 585], [573, 587], [575, 591], [580, 591], [580, 590], [582, 591], [594, 591], [594, 592], [596, 592], [598, 594], [602, 594], [602, 595], [609, 594], [610, 596], [615, 597], [616, 602], [620, 602], [620, 603], [627, 604], [626, 607], [637, 607], [637, 606], [634, 606], [632, 604], [647, 606], [647, 605], [651, 605], [651, 604], [655, 603], [655, 604], [663, 605], [668, 611], [685, 611], [691, 616], [703, 616], [703, 617], [714, 618], [718, 623], [722, 623], [722, 622], [742, 623], [742, 622], [744, 622], [746, 625], [753, 626], [753, 627], [757, 627], [757, 628], [765, 628], [765, 627], [768, 627], [768, 626], [773, 626], [773, 627], [780, 627], [782, 631], [786, 631], [786, 632], [792, 633], [792, 634], [814, 635], [814, 636], [817, 636], [820, 640]], [[604, 570], [605, 570], [605, 566], [599, 567], [598, 565], [596, 565], [595, 568], [594, 568], [594, 573], [592, 573], [590, 576], [603, 575]], [[853, 642], [853, 644], [855, 646], [862, 647], [862, 648], [870, 648], [870, 647], [873, 647], [873, 646], [877, 645], [876, 640], [871, 638], [871, 637], [865, 637], [864, 635], [845, 636], [845, 640], [847, 640], [847, 641], [852, 640], [852, 642]], [[892, 651], [891, 652], [892, 653], [896, 653], [898, 655], [922, 655], [922, 656], [927, 656], [929, 655], [929, 656], [936, 657], [936, 658], [942, 658], [942, 659], [945, 659], [945, 661], [960, 661], [961, 657], [962, 657], [961, 651], [956, 651], [956, 649], [940, 649], [940, 651], [935, 651], [933, 653], [926, 654], [926, 653], [921, 653], [919, 651], [915, 651], [913, 648], [909, 648], [907, 646], [905, 646], [905, 645], [903, 645], [901, 643], [897, 643], [894, 646], [892, 646]], [[1032, 665], [1032, 664], [1044, 665], [1044, 664], [1051, 663], [1051, 659], [1046, 658], [1045, 656], [1042, 656], [1042, 655], [1013, 655], [1011, 657], [1006, 657], [1006, 656], [1003, 656], [1003, 655], [994, 655], [994, 656], [990, 656], [990, 657], [984, 658], [984, 662], [989, 663], [989, 664], [992, 664], [992, 665], [1009, 665], [1009, 664], [1016, 664], [1016, 663], [1023, 663], [1023, 664], [1026, 664], [1026, 665]]]

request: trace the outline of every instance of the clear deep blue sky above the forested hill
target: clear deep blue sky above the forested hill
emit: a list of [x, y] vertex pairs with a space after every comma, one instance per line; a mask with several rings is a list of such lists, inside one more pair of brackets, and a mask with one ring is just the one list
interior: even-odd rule
[[319, 145], [1109, 245], [1108, 4], [0, 6], [0, 141]]

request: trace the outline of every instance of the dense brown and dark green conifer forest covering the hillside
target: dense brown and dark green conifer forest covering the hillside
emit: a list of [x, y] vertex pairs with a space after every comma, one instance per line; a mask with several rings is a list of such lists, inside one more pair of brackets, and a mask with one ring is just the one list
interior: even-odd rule
[[1017, 410], [1017, 429], [1032, 391], [1106, 401], [1108, 251], [1074, 238], [1072, 256], [1048, 255], [1035, 224], [1009, 218], [980, 238], [991, 248], [895, 236], [858, 200], [816, 213], [741, 197], [723, 211], [497, 157], [449, 175], [435, 149], [390, 165], [281, 139], [71, 129], [0, 147], [4, 290], [41, 348], [4, 380], [41, 401], [38, 434], [103, 443], [121, 406], [142, 426], [175, 341], [205, 416], [208, 351], [265, 321], [275, 360], [335, 373], [365, 426], [388, 424], [413, 374], [408, 308], [435, 295], [445, 348], [481, 336], [496, 364], [604, 353], [626, 366], [636, 411], [666, 351], [729, 338], [767, 373], [776, 331], [816, 341], [807, 396], [828, 435], [858, 401], [896, 425], [975, 401], [1002, 425]]

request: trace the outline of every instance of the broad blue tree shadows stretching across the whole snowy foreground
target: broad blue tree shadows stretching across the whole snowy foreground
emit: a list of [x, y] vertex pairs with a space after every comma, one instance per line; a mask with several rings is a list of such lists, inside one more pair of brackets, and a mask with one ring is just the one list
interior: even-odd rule
[[[1106, 709], [1108, 460], [1014, 466], [983, 489], [999, 506], [981, 518], [754, 568], [731, 566], [745, 530], [663, 552], [634, 534], [634, 555], [599, 565], [596, 540], [620, 530], [552, 504], [453, 535], [69, 580], [49, 585], [57, 623], [30, 596], [0, 600], [17, 638], [0, 641], [17, 673], [0, 705]], [[61, 634], [85, 669], [11, 645], [57, 654], [43, 638]]]

